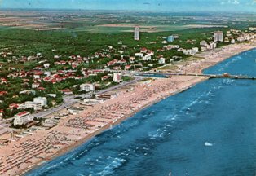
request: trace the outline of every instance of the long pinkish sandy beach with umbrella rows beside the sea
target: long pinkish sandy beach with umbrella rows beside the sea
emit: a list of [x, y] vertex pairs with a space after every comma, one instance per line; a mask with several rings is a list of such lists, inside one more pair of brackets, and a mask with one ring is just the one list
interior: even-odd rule
[[[232, 55], [253, 48], [255, 43], [235, 44], [214, 51], [201, 52], [198, 56], [205, 59], [188, 61], [180, 65], [177, 72], [201, 73], [205, 68], [218, 64]], [[77, 115], [61, 119], [59, 125], [50, 130], [36, 130], [24, 138], [0, 146], [0, 175], [22, 175], [44, 161], [50, 161], [85, 143], [141, 109], [187, 90], [206, 79], [196, 76], [148, 79], [117, 90], [117, 96], [113, 99], [87, 107]]]

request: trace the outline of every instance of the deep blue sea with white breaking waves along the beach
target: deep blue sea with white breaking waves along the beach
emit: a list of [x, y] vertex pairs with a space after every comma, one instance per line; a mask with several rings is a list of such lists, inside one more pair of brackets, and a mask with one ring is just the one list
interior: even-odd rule
[[[256, 50], [205, 73], [256, 76]], [[210, 79], [143, 109], [29, 176], [256, 175], [256, 81]]]

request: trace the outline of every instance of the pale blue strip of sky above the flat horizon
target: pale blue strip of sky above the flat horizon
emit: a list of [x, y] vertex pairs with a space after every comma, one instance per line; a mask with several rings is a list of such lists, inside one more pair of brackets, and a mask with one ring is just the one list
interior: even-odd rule
[[256, 13], [256, 0], [0, 0], [0, 8]]

